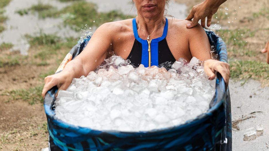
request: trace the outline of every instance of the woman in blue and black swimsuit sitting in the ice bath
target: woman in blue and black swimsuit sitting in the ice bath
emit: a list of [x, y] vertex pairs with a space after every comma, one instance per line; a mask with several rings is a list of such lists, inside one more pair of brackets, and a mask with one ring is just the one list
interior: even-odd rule
[[138, 16], [101, 25], [79, 56], [68, 62], [62, 72], [45, 78], [42, 96], [55, 85], [67, 89], [73, 78], [87, 76], [104, 61], [108, 51], [146, 67], [179, 58], [207, 60], [205, 73], [209, 79], [214, 79], [218, 71], [228, 84], [229, 65], [210, 59], [210, 45], [203, 28], [188, 29], [186, 24], [190, 21], [164, 18], [167, 1], [133, 0]]

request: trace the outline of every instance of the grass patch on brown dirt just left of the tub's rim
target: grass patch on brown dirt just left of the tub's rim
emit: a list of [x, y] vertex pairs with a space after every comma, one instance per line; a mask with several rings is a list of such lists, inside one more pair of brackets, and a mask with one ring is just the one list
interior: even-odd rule
[[10, 96], [11, 98], [9, 98], [9, 100], [23, 100], [33, 105], [43, 103], [43, 97], [41, 96], [42, 90], [43, 85], [39, 85], [30, 89], [12, 90], [3, 95]]

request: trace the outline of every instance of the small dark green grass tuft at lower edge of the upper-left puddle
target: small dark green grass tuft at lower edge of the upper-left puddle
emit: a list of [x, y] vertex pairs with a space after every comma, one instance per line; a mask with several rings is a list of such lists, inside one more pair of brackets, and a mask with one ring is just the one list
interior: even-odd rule
[[61, 38], [54, 34], [45, 34], [40, 31], [38, 36], [25, 35], [31, 46], [33, 45], [54, 45], [61, 41]]

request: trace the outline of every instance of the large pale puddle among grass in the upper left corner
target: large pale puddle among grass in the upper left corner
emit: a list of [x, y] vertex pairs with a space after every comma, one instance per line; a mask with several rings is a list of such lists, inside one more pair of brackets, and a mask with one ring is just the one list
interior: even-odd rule
[[[54, 0], [43, 0], [43, 4], [50, 4], [58, 9], [62, 9], [69, 3], [60, 3]], [[60, 37], [77, 37], [77, 33], [68, 27], [60, 27], [62, 19], [59, 18], [45, 18], [39, 19], [38, 14], [29, 14], [20, 16], [16, 13], [19, 9], [26, 9], [32, 5], [38, 4], [36, 0], [13, 0], [5, 7], [5, 15], [8, 16], [6, 21], [6, 30], [0, 34], [0, 43], [12, 43], [14, 47], [11, 51], [20, 50], [22, 55], [27, 55], [29, 44], [24, 35], [33, 35], [42, 30], [46, 34], [53, 34]]]

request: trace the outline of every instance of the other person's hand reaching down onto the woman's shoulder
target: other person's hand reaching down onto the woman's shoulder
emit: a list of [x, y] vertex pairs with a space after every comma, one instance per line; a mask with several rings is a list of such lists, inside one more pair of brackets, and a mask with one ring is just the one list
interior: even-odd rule
[[192, 7], [192, 11], [186, 20], [193, 21], [187, 24], [187, 28], [196, 26], [201, 19], [202, 27], [205, 27], [205, 18], [207, 17], [207, 26], [211, 25], [212, 16], [218, 11], [220, 5], [227, 0], [205, 0], [202, 3]]

